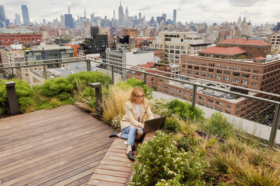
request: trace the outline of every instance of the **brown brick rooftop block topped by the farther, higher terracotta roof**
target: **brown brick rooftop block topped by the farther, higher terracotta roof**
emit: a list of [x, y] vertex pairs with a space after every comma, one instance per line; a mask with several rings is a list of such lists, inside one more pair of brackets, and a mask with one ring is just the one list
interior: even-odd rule
[[246, 58], [254, 59], [256, 57], [270, 54], [271, 44], [260, 39], [226, 39], [216, 44], [217, 47], [240, 47], [246, 52]]

